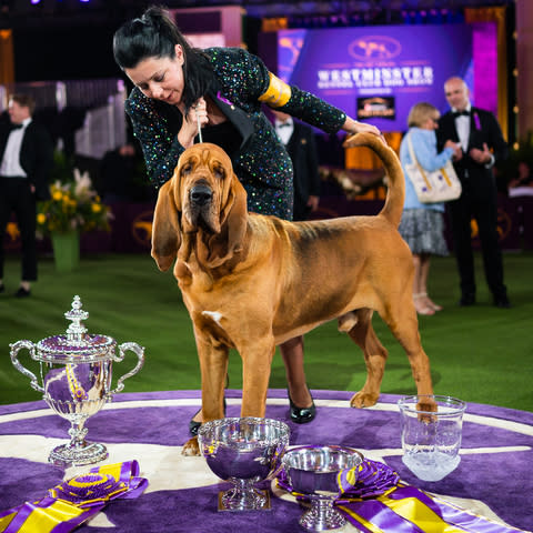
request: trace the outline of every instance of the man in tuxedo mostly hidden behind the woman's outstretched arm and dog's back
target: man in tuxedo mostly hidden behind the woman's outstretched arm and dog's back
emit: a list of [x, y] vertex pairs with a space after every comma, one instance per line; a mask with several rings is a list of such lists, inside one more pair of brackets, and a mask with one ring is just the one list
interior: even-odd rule
[[272, 110], [278, 137], [292, 160], [294, 175], [293, 220], [308, 220], [320, 200], [316, 142], [312, 128], [294, 121], [290, 114]]

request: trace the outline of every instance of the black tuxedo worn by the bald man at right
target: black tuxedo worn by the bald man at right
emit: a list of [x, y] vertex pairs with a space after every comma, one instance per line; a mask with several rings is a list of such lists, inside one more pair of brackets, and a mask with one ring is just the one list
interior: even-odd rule
[[[436, 132], [439, 151], [450, 139], [460, 142], [455, 118], [450, 111], [439, 121]], [[507, 155], [507, 145], [495, 117], [479, 108], [471, 109], [470, 135], [466, 153], [454, 163], [461, 180], [461, 197], [447, 202], [447, 213], [452, 223], [453, 245], [461, 278], [463, 298], [475, 296], [474, 259], [471, 239], [471, 218], [477, 223], [486, 282], [495, 301], [506, 299], [503, 282], [502, 252], [497, 235], [497, 191], [492, 168], [476, 163], [469, 152], [472, 148], [483, 150], [486, 143], [493, 151], [495, 161]]]

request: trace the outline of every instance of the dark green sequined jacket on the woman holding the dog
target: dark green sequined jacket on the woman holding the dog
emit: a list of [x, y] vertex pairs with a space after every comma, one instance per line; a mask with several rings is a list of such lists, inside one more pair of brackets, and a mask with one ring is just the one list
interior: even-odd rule
[[[209, 95], [242, 137], [232, 162], [248, 192], [249, 211], [291, 220], [292, 163], [259, 100], [269, 88], [269, 70], [260, 58], [240, 48], [210, 48], [205, 53], [218, 83], [217, 92]], [[289, 101], [278, 109], [328, 133], [338, 132], [346, 119], [341, 110], [294, 86]], [[142, 145], [149, 179], [159, 188], [172, 177], [184, 151], [177, 138], [182, 114], [138, 88], [125, 101], [125, 111]]]

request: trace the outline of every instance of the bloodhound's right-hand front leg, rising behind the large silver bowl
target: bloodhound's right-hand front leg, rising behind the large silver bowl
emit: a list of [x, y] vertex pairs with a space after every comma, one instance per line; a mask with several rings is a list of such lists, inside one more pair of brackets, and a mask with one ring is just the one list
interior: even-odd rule
[[264, 418], [270, 369], [274, 356], [273, 339], [258, 340], [242, 348], [242, 406], [241, 416]]

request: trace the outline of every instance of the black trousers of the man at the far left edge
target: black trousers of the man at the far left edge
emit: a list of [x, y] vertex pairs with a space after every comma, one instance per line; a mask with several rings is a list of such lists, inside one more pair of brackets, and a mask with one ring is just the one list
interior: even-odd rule
[[37, 204], [26, 178], [0, 177], [0, 279], [3, 279], [6, 229], [11, 218], [17, 217], [22, 244], [21, 280], [37, 280]]

